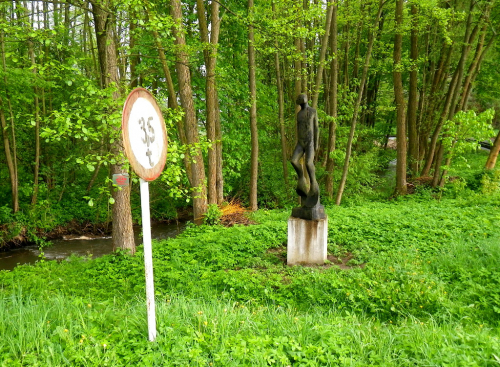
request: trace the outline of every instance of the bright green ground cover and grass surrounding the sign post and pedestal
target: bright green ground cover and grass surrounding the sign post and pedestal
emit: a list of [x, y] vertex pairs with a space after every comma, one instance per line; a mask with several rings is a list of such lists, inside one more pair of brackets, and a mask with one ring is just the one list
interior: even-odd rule
[[288, 211], [154, 243], [156, 343], [141, 252], [0, 272], [4, 365], [493, 366], [500, 196], [331, 207], [347, 269], [284, 264]]

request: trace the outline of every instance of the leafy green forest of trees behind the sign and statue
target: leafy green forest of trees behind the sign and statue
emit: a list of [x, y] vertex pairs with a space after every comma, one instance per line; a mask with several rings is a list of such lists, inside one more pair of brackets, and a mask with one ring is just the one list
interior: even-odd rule
[[[326, 205], [374, 195], [394, 158], [385, 197], [439, 190], [453, 159], [496, 135], [499, 10], [494, 0], [2, 2], [3, 241], [112, 222], [115, 246], [134, 250], [139, 193], [120, 122], [137, 86], [168, 130], [156, 219], [192, 206], [201, 223], [231, 199], [252, 211], [296, 205], [299, 93], [319, 114]], [[393, 135], [408, 142], [396, 155], [383, 149]], [[130, 173], [131, 187], [113, 186], [113, 173]]]

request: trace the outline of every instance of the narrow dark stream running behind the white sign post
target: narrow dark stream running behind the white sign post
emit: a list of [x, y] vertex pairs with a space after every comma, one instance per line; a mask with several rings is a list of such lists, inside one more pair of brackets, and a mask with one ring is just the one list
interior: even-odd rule
[[[151, 237], [156, 240], [163, 240], [177, 236], [184, 229], [184, 223], [179, 224], [154, 224], [151, 228]], [[134, 227], [135, 243], [140, 244], [142, 240], [140, 226]], [[64, 260], [71, 254], [78, 256], [100, 257], [113, 252], [111, 237], [96, 239], [57, 239], [51, 241], [51, 246], [43, 249], [46, 260]], [[40, 250], [37, 245], [29, 245], [15, 248], [6, 252], [0, 252], [0, 270], [12, 270], [17, 265], [34, 264], [40, 260]]]

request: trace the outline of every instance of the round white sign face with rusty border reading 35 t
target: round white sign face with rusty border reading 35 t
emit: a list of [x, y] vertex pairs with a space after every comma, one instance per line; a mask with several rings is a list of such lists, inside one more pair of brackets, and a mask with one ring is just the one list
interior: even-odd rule
[[145, 181], [156, 179], [167, 158], [165, 121], [154, 97], [135, 88], [123, 106], [122, 134], [132, 169]]

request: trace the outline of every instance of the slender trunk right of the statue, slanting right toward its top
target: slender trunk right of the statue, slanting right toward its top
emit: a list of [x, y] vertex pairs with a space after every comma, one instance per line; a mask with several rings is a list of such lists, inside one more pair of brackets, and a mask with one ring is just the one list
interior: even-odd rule
[[[378, 28], [378, 24], [380, 22], [380, 17], [382, 15], [382, 8], [384, 5], [384, 1], [380, 0], [379, 1], [379, 6], [378, 6], [378, 12], [377, 16], [375, 18], [375, 24], [373, 29]], [[353, 116], [351, 119], [351, 129], [349, 131], [349, 138], [347, 140], [347, 147], [346, 147], [346, 156], [345, 156], [345, 161], [344, 161], [344, 168], [342, 169], [342, 178], [340, 179], [340, 184], [339, 184], [339, 189], [337, 191], [337, 196], [335, 198], [335, 204], [340, 205], [342, 201], [342, 195], [344, 194], [344, 188], [345, 188], [345, 183], [347, 181], [347, 173], [349, 172], [349, 161], [351, 159], [351, 151], [352, 151], [352, 141], [354, 139], [354, 132], [356, 130], [356, 123], [358, 120], [358, 113], [359, 113], [359, 107], [361, 105], [361, 99], [363, 98], [364, 94], [364, 86], [366, 84], [366, 78], [368, 76], [368, 68], [370, 67], [370, 59], [372, 55], [372, 50], [373, 50], [373, 42], [375, 41], [375, 32], [372, 31], [369, 33], [369, 41], [368, 41], [368, 48], [366, 50], [366, 56], [365, 56], [365, 65], [363, 67], [363, 74], [361, 76], [361, 83], [358, 91], [358, 98], [356, 100], [356, 103], [354, 105], [354, 112]]]

